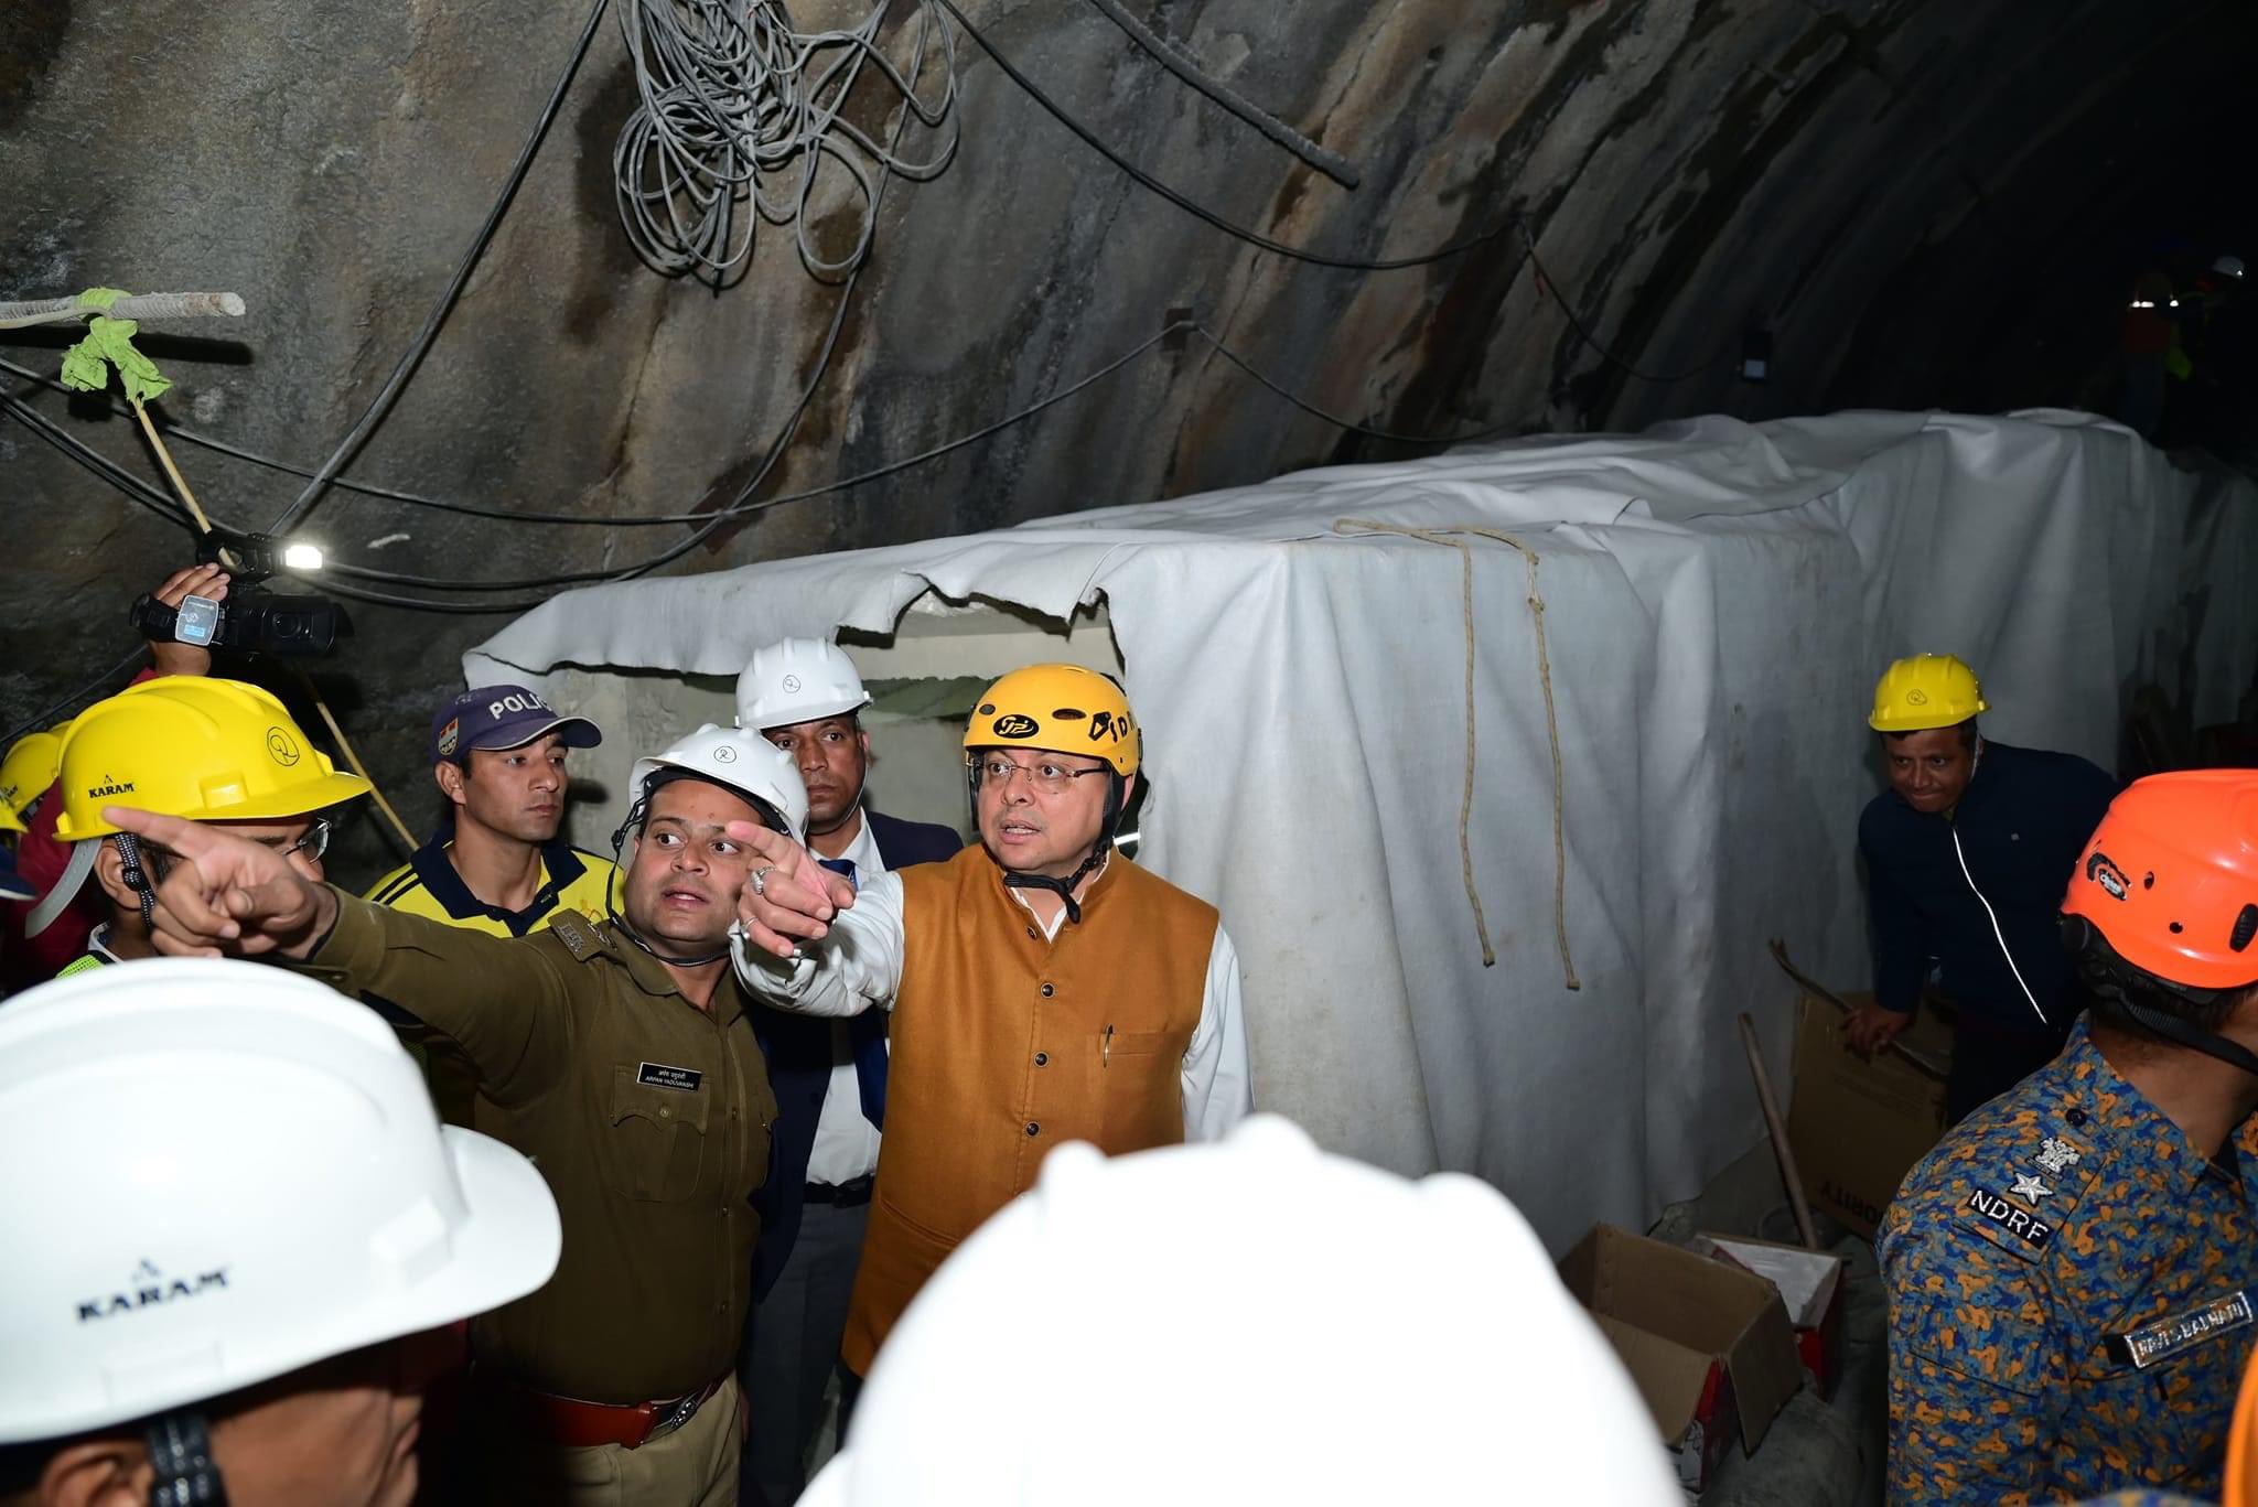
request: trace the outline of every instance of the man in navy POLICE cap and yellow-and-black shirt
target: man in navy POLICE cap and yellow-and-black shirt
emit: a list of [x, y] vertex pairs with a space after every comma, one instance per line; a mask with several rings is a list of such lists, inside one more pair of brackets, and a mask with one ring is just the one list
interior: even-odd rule
[[[567, 757], [598, 743], [596, 723], [553, 709], [522, 685], [449, 696], [431, 718], [429, 743], [447, 816], [366, 899], [497, 938], [522, 938], [560, 915], [603, 922], [619, 870], [560, 836]], [[422, 1060], [440, 1118], [470, 1125], [479, 1069], [415, 1017], [388, 1019]]]

